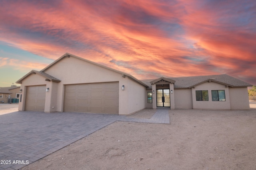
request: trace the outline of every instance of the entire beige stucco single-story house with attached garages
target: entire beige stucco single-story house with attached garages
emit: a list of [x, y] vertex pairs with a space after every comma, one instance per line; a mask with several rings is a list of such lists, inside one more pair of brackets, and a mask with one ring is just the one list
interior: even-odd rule
[[19, 110], [129, 115], [144, 108], [250, 109], [247, 87], [226, 74], [138, 80], [66, 53], [21, 84]]

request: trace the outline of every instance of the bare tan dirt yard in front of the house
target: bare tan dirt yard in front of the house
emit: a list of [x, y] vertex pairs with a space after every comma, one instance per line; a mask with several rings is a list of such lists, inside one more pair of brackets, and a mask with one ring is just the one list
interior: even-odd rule
[[[22, 170], [253, 170], [256, 103], [250, 106], [170, 110], [170, 124], [117, 121]], [[146, 113], [131, 116], [154, 111]]]

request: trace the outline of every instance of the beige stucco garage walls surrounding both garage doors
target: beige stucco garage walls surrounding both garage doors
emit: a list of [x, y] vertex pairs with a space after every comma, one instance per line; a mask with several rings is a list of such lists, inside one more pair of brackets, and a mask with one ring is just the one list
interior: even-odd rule
[[[122, 77], [121, 73], [82, 61], [75, 57], [64, 57], [61, 61], [45, 70], [47, 74], [61, 80], [48, 82], [39, 74], [30, 74], [21, 84], [22, 102], [19, 110], [24, 111], [26, 101], [26, 86], [46, 85], [50, 88], [46, 92], [45, 112], [63, 111], [64, 86], [66, 84], [85, 84], [97, 82], [119, 82], [119, 114], [127, 115], [146, 107], [146, 87], [134, 80]], [[122, 85], [125, 89], [122, 90]]]

